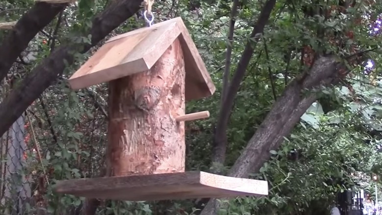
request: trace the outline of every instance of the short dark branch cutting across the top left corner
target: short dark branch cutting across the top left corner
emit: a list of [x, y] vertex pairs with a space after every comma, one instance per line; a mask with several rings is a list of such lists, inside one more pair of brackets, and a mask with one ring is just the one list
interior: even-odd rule
[[0, 81], [36, 34], [64, 10], [67, 3], [36, 2], [9, 31], [0, 46]]

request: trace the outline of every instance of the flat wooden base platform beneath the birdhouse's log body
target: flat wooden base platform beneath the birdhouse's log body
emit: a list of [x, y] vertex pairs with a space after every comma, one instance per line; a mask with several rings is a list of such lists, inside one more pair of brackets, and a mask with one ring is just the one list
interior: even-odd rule
[[151, 201], [267, 195], [268, 183], [195, 171], [66, 180], [55, 190], [99, 199]]

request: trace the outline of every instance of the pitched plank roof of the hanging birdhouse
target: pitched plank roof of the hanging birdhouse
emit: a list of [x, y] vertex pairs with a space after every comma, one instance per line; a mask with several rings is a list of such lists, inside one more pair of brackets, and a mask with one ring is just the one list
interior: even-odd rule
[[80, 89], [147, 71], [177, 38], [186, 66], [186, 100], [211, 96], [215, 85], [180, 17], [111, 38], [69, 83], [72, 89]]

